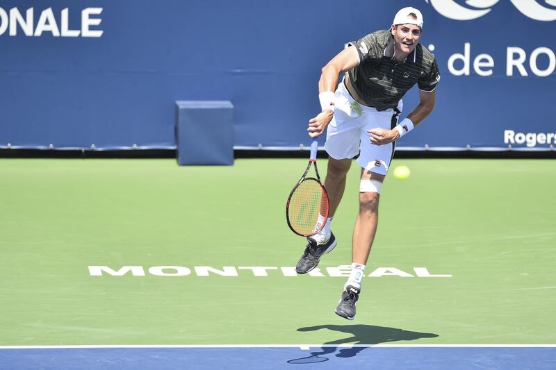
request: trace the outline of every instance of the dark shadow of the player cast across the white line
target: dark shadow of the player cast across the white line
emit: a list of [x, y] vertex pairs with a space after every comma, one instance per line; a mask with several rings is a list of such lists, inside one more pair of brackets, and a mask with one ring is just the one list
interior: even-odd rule
[[[297, 331], [316, 331], [320, 329], [328, 329], [337, 331], [340, 333], [347, 333], [350, 336], [343, 337], [341, 339], [336, 339], [330, 342], [326, 342], [321, 349], [321, 351], [310, 352], [311, 355], [304, 358], [296, 358], [293, 360], [288, 360], [290, 364], [307, 364], [313, 362], [325, 362], [329, 359], [324, 357], [332, 353], [336, 353], [338, 350], [337, 346], [345, 343], [353, 344], [352, 347], [341, 348], [336, 357], [338, 358], [350, 358], [357, 353], [368, 348], [369, 344], [379, 344], [379, 343], [389, 343], [397, 342], [399, 340], [415, 340], [420, 338], [434, 338], [438, 337], [434, 333], [420, 333], [416, 331], [403, 330], [398, 328], [388, 328], [386, 326], [374, 326], [374, 325], [318, 325], [318, 326], [308, 326], [306, 328], [299, 328]], [[359, 345], [359, 346], [358, 346]]]

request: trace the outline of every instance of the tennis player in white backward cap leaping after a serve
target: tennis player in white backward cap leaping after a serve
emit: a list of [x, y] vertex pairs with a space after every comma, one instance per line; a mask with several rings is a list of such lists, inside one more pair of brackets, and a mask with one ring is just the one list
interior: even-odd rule
[[[440, 75], [434, 55], [418, 43], [422, 31], [421, 12], [403, 8], [395, 15], [390, 29], [350, 42], [322, 68], [318, 82], [322, 112], [309, 120], [308, 131], [311, 137], [327, 131], [325, 150], [329, 161], [325, 187], [330, 210], [325, 228], [307, 238], [309, 243], [296, 271], [298, 274], [311, 271], [320, 257], [336, 246], [330, 226], [343, 196], [352, 158], [359, 154], [356, 162], [361, 167], [361, 183], [352, 239], [352, 271], [336, 307], [336, 314], [345, 319], [355, 317], [361, 279], [377, 230], [379, 194], [395, 140], [413, 130], [434, 108]], [[341, 74], [343, 79], [338, 84]], [[419, 87], [420, 102], [398, 123], [402, 96], [415, 84]], [[325, 221], [324, 217], [319, 221]], [[400, 220], [400, 224], [404, 222], [407, 220]]]

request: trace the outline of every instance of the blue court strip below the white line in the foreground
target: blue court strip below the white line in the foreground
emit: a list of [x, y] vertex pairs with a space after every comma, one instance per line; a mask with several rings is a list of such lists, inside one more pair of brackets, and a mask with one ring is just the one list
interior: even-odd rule
[[556, 369], [556, 346], [37, 346], [1, 369]]

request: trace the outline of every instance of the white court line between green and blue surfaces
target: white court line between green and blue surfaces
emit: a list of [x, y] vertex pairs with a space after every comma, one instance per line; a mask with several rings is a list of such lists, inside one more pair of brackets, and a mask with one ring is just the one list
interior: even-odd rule
[[309, 348], [325, 347], [389, 347], [389, 348], [556, 348], [556, 344], [91, 344], [67, 346], [0, 346], [2, 349], [58, 349], [58, 348]]

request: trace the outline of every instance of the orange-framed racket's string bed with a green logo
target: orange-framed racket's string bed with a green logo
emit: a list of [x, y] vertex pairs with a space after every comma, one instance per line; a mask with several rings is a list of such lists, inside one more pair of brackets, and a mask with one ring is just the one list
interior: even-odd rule
[[327, 217], [328, 207], [328, 197], [322, 185], [314, 178], [306, 178], [290, 199], [288, 217], [292, 228], [301, 235], [313, 235], [318, 215]]

